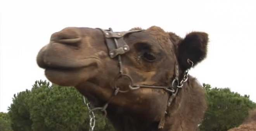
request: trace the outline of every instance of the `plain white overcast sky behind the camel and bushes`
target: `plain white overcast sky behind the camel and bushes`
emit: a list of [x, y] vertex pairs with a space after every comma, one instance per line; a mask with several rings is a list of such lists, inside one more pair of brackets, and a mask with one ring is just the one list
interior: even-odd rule
[[124, 31], [152, 25], [181, 37], [207, 32], [208, 58], [190, 74], [256, 102], [255, 0], [0, 0], [0, 111], [7, 111], [15, 93], [46, 79], [36, 55], [52, 33], [65, 27]]

